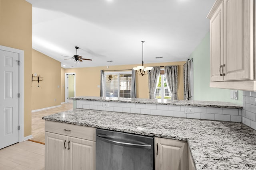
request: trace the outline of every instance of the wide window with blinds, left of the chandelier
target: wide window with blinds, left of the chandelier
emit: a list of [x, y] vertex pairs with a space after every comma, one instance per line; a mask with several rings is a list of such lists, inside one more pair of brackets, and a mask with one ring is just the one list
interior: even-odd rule
[[105, 73], [106, 97], [130, 98], [132, 74]]

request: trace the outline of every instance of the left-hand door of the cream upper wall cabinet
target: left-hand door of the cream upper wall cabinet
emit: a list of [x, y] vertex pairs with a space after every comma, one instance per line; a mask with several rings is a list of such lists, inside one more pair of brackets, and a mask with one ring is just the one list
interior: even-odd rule
[[220, 68], [223, 62], [223, 4], [220, 4], [210, 20], [211, 81], [223, 80]]

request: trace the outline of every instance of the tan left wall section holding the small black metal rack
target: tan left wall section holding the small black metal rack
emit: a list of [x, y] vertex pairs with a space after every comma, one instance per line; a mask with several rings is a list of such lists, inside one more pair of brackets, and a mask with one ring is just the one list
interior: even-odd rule
[[60, 105], [60, 62], [33, 49], [34, 73], [43, 80], [32, 82], [32, 110]]

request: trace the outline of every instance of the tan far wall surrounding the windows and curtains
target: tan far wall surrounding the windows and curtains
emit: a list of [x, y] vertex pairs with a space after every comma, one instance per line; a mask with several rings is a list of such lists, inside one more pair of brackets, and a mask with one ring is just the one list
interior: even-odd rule
[[[178, 98], [184, 99], [183, 91], [183, 64], [185, 61], [170, 62], [170, 63], [150, 63], [144, 66], [168, 66], [178, 65]], [[120, 66], [106, 66], [101, 67], [87, 67], [87, 68], [70, 68], [65, 69], [66, 72], [76, 73], [76, 96], [100, 96], [100, 70], [122, 70], [131, 69], [139, 64], [120, 65]], [[148, 76], [136, 75], [137, 98], [148, 98]]]

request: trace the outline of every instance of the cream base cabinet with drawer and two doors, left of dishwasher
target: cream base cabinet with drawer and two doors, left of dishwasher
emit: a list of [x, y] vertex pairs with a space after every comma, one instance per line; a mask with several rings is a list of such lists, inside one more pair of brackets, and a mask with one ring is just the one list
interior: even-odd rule
[[45, 121], [45, 170], [94, 170], [95, 128]]

